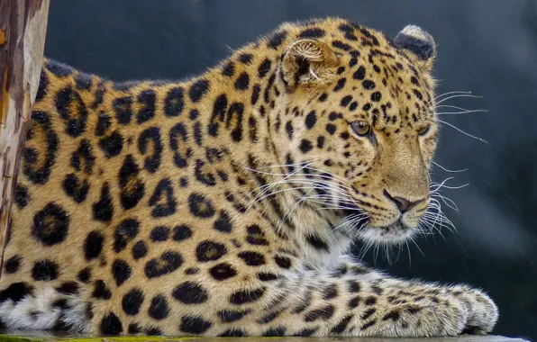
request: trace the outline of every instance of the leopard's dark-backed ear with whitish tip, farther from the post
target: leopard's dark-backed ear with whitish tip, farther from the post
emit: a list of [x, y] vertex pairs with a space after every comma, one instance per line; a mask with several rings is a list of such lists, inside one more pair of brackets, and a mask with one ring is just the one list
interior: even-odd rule
[[394, 39], [396, 47], [404, 49], [423, 71], [430, 71], [436, 57], [436, 46], [432, 35], [415, 25], [407, 25]]

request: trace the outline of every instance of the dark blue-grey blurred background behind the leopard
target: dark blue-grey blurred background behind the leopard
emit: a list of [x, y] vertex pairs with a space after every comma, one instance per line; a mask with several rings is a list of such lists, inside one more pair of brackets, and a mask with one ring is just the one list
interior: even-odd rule
[[[394, 275], [482, 287], [496, 300], [495, 333], [537, 341], [537, 1], [533, 0], [52, 0], [45, 55], [114, 80], [184, 78], [284, 21], [335, 15], [395, 36], [414, 23], [438, 44], [438, 92], [488, 112], [441, 119], [433, 179], [458, 229], [419, 238], [387, 262]], [[421, 250], [420, 250], [421, 249]], [[357, 247], [360, 252], [360, 247]], [[410, 255], [410, 257], [409, 257]], [[396, 260], [397, 259], [397, 260]]]

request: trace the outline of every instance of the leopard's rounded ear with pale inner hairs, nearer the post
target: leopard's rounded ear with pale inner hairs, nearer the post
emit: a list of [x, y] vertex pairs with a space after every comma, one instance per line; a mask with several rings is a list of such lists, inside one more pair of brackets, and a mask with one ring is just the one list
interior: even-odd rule
[[336, 73], [338, 58], [318, 40], [296, 40], [284, 52], [282, 77], [289, 89], [298, 85], [323, 84]]

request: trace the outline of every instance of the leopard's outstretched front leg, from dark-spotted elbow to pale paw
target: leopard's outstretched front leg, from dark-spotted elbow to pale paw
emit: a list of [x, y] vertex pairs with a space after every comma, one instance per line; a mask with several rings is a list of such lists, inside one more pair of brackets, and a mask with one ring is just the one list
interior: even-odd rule
[[[408, 282], [350, 264], [306, 270], [294, 252], [269, 248], [259, 229], [250, 229], [248, 244], [228, 246], [191, 233], [179, 225], [149, 250], [132, 241], [96, 269], [86, 293], [91, 332], [440, 337], [488, 332], [497, 320], [487, 295], [464, 286]], [[179, 249], [186, 237], [195, 247]], [[130, 255], [139, 257], [132, 266], [124, 262]]]

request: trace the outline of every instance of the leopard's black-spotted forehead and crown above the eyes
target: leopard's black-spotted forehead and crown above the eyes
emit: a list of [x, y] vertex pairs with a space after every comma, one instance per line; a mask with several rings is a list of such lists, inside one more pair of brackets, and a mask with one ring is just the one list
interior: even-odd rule
[[340, 60], [335, 84], [317, 95], [319, 103], [338, 103], [334, 111], [348, 120], [370, 121], [378, 129], [414, 129], [432, 121], [434, 80], [386, 33], [329, 18], [284, 24], [269, 37], [268, 47], [292, 36], [327, 44]]

